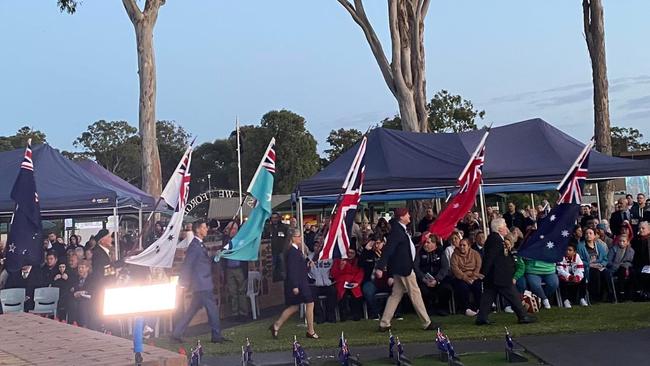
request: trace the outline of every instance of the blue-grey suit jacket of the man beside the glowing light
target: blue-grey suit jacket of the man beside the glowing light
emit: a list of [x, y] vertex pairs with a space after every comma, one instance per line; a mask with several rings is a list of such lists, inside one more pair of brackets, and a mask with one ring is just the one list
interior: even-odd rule
[[181, 269], [181, 285], [191, 291], [212, 291], [212, 257], [198, 238], [192, 239], [185, 252], [185, 262]]

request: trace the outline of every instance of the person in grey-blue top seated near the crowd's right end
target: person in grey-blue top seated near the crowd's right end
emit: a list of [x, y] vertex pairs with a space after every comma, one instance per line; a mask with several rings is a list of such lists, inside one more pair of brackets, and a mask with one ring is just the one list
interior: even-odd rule
[[[631, 275], [632, 261], [634, 260], [634, 249], [630, 247], [630, 240], [625, 234], [618, 236], [618, 243], [609, 249], [607, 253], [607, 285], [610, 294], [615, 291], [623, 292], [622, 300], [628, 300], [632, 291]], [[614, 277], [616, 278], [615, 288]]]

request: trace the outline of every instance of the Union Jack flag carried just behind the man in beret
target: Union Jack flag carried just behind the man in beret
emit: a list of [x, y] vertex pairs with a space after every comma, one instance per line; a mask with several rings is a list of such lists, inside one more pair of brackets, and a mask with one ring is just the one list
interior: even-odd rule
[[361, 201], [363, 178], [366, 172], [366, 144], [368, 138], [363, 137], [359, 144], [357, 154], [352, 161], [350, 170], [343, 181], [343, 192], [336, 203], [334, 216], [320, 253], [320, 260], [334, 257], [347, 258], [350, 248], [350, 236], [357, 206]]

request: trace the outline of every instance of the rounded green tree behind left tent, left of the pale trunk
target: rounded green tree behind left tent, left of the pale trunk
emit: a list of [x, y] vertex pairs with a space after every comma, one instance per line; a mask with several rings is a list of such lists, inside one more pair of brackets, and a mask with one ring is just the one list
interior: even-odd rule
[[72, 144], [83, 149], [80, 156], [92, 158], [113, 174], [139, 185], [142, 177], [137, 132], [127, 121], [99, 120], [88, 126]]

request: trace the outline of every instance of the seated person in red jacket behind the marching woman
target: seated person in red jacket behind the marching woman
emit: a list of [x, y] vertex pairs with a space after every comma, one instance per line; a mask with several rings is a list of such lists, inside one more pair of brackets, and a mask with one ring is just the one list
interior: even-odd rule
[[336, 298], [339, 301], [341, 321], [350, 316], [354, 321], [363, 316], [363, 269], [357, 265], [357, 252], [348, 249], [347, 259], [336, 259], [330, 270], [336, 286]]

